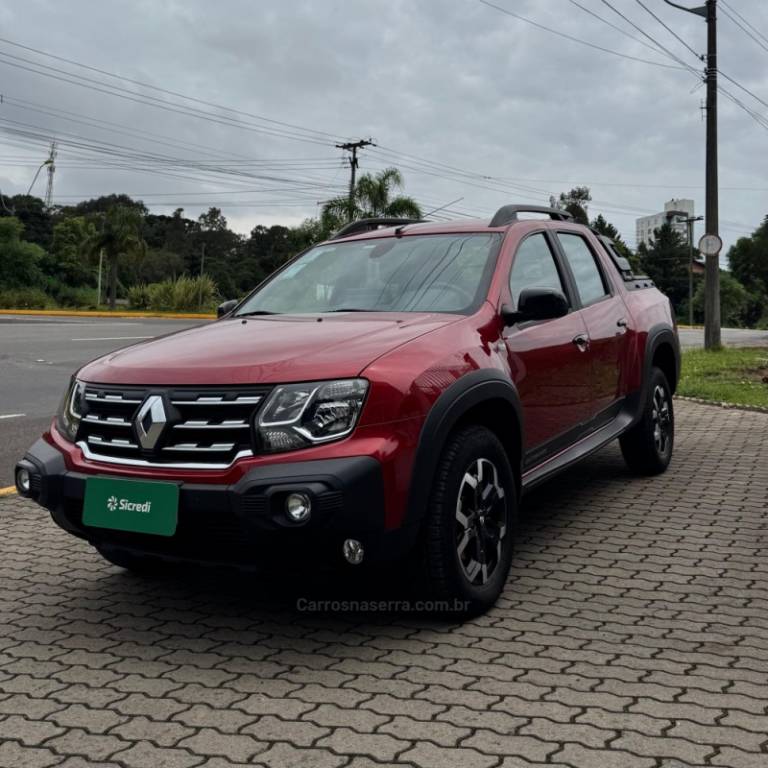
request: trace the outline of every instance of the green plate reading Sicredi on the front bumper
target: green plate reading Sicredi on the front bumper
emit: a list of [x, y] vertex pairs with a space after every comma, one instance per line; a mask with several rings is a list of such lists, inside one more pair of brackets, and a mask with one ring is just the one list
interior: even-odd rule
[[179, 511], [179, 486], [113, 477], [85, 481], [83, 524], [116, 531], [173, 536]]

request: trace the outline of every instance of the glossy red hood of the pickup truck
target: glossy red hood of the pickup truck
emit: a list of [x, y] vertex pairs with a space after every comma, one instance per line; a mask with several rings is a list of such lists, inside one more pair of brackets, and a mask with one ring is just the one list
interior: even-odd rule
[[377, 357], [463, 316], [349, 313], [231, 318], [135, 344], [79, 373], [99, 384], [276, 384], [359, 375]]

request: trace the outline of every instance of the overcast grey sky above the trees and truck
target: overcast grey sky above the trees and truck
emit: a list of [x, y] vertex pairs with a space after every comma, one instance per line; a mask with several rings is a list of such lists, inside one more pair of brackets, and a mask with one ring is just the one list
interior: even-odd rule
[[[54, 202], [217, 204], [248, 232], [315, 215], [348, 181], [334, 145], [370, 137], [361, 172], [396, 165], [451, 216], [583, 184], [590, 214], [634, 245], [635, 218], [665, 200], [703, 213], [704, 89], [686, 68], [703, 65], [684, 45], [704, 50], [702, 19], [662, 0], [612, 0], [627, 20], [603, 0], [494, 5], [0, 0], [0, 190], [26, 192], [56, 139]], [[721, 97], [727, 244], [768, 213], [768, 106], [743, 90], [768, 103], [768, 3], [720, 5], [720, 68], [738, 85], [722, 84], [752, 112]]]

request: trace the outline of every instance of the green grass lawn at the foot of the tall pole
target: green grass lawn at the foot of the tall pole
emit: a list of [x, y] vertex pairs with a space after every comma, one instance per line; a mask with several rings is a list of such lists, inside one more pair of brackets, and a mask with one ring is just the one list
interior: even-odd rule
[[768, 347], [687, 350], [677, 393], [768, 408]]

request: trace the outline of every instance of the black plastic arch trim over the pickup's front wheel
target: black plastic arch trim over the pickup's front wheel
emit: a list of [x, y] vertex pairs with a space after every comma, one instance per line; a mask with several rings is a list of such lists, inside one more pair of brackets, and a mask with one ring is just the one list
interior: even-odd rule
[[[416, 448], [411, 475], [408, 506], [403, 527], [418, 530], [423, 519], [432, 481], [440, 454], [453, 428], [472, 408], [488, 400], [504, 400], [512, 406], [517, 419], [518, 459], [513, 463], [519, 493], [522, 474], [523, 409], [520, 396], [512, 381], [501, 371], [483, 369], [472, 371], [451, 384], [437, 398], [424, 421]], [[510, 425], [512, 428], [512, 425]]]

